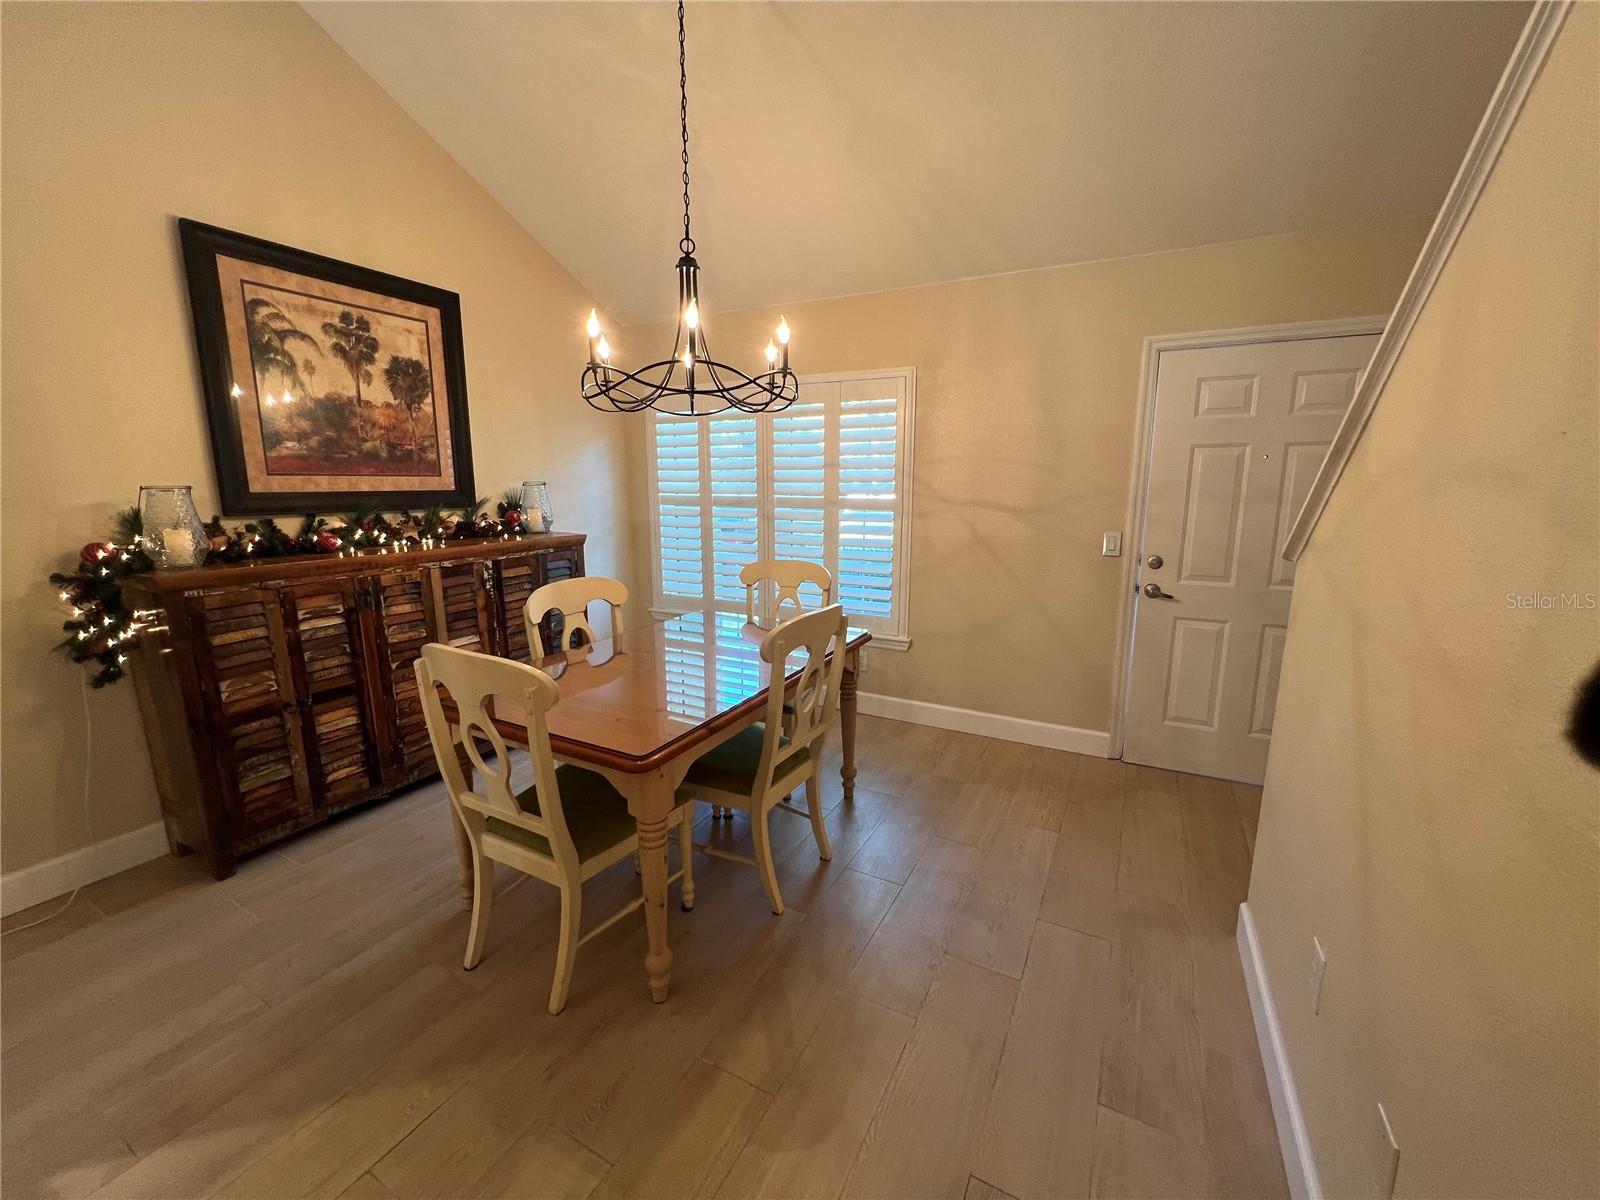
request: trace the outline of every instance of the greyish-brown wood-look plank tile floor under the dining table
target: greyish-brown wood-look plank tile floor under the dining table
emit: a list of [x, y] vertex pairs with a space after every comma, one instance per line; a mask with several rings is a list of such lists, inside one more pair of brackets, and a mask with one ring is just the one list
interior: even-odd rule
[[627, 920], [549, 1016], [555, 890], [510, 872], [462, 971], [437, 787], [85, 888], [0, 942], [5, 1195], [1285, 1195], [1234, 949], [1258, 790], [867, 717], [858, 757], [832, 862], [773, 816], [784, 917], [699, 858], [664, 1005]]

